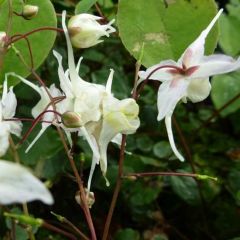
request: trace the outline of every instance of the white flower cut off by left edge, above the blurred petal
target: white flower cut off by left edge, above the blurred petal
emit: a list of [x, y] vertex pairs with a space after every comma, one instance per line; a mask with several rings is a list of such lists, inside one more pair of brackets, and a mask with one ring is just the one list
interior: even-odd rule
[[7, 90], [7, 81], [3, 84], [3, 94], [0, 100], [0, 156], [3, 156], [9, 147], [10, 133], [20, 137], [22, 123], [20, 121], [4, 121], [12, 119], [15, 115], [17, 99], [13, 93], [13, 87]]

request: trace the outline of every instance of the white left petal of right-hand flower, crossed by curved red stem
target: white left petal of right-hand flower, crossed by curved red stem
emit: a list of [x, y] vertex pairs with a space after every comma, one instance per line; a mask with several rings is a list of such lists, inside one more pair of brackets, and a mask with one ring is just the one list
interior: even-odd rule
[[[152, 80], [158, 80], [161, 82], [172, 80], [173, 74], [169, 71], [173, 70], [173, 68], [167, 68], [164, 66], [177, 66], [177, 64], [173, 60], [166, 60], [166, 61], [162, 61], [159, 64], [156, 64], [156, 65], [148, 68], [146, 71], [140, 71], [138, 73], [138, 76], [140, 77], [138, 84], [141, 83], [142, 81], [144, 81], [146, 78], [149, 78]], [[159, 67], [164, 67], [164, 68], [156, 70], [154, 73], [152, 73], [155, 69], [157, 69]]]

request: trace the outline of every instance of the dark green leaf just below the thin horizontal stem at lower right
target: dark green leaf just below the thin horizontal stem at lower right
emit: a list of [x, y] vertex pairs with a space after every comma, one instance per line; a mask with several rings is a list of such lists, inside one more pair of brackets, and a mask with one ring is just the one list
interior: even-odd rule
[[200, 203], [200, 196], [196, 181], [191, 177], [170, 177], [173, 191], [190, 205]]

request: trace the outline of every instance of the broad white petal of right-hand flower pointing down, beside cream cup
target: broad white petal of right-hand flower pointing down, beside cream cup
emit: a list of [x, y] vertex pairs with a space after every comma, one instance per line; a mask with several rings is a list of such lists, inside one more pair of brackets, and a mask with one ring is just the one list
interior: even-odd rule
[[186, 79], [175, 79], [163, 82], [158, 90], [158, 117], [161, 121], [165, 116], [172, 115], [178, 101], [186, 96], [189, 82]]

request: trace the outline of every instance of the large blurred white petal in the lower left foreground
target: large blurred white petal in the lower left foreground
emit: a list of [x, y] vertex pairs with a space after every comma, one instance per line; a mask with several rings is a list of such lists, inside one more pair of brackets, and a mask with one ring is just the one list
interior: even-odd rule
[[25, 167], [0, 160], [0, 203], [25, 203], [33, 200], [53, 204], [49, 190]]

